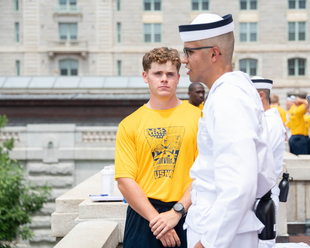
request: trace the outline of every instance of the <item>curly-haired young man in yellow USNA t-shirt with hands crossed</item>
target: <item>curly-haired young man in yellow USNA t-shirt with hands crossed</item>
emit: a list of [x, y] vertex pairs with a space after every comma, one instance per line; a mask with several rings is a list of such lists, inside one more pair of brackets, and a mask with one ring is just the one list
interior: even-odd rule
[[[201, 110], [176, 96], [180, 66], [175, 49], [159, 47], [146, 53], [142, 76], [151, 98], [118, 127], [115, 178], [129, 204], [124, 248], [187, 247], [182, 217], [190, 198], [183, 195], [192, 182], [189, 169], [198, 155]], [[171, 219], [179, 221], [156, 239], [156, 227], [151, 229], [150, 221], [160, 213], [167, 223]]]

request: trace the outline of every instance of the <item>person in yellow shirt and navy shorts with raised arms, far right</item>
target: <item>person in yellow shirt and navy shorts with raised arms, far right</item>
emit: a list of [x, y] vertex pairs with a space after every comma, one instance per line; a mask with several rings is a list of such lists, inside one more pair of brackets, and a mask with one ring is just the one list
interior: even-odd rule
[[299, 154], [308, 154], [307, 139], [305, 136], [306, 127], [303, 118], [306, 110], [309, 108], [309, 103], [306, 99], [296, 97], [294, 104], [288, 110], [290, 118], [287, 126], [290, 128], [292, 136], [290, 137], [290, 152]]

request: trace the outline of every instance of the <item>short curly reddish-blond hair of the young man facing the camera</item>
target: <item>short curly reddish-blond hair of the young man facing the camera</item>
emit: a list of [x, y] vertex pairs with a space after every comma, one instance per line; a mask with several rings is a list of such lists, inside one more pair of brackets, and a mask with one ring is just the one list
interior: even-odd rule
[[157, 62], [158, 64], [165, 64], [171, 61], [179, 73], [181, 67], [180, 54], [176, 49], [168, 47], [157, 47], [147, 52], [143, 56], [142, 64], [144, 71], [148, 72], [151, 69], [151, 64]]

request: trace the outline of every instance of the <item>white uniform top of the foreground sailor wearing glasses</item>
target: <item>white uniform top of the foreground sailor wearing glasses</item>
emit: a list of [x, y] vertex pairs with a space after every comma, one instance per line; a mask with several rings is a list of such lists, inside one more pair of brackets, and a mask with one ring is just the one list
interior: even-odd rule
[[184, 227], [201, 233], [205, 247], [229, 248], [237, 233], [264, 227], [251, 209], [276, 184], [271, 144], [262, 102], [246, 73], [216, 80], [203, 113], [190, 176], [193, 192], [209, 203], [192, 204]]

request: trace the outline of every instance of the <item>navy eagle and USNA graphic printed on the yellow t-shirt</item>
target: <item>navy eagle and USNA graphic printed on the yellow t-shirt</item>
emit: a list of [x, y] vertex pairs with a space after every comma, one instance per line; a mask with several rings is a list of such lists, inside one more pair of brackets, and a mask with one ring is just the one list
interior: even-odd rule
[[149, 128], [144, 135], [151, 148], [155, 179], [172, 178], [184, 137], [184, 126]]

